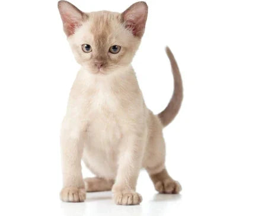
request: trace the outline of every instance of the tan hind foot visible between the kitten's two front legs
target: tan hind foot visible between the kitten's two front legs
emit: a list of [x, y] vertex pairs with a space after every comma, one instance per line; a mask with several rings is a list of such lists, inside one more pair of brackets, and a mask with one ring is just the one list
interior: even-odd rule
[[114, 180], [99, 177], [85, 178], [85, 188], [87, 192], [111, 191]]

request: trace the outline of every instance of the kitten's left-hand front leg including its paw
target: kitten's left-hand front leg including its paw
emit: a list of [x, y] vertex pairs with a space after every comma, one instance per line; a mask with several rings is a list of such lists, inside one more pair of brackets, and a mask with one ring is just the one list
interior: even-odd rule
[[64, 119], [62, 123], [60, 146], [63, 188], [60, 199], [64, 202], [83, 202], [85, 185], [82, 178], [81, 158], [85, 132], [82, 130], [82, 125], [72, 122]]

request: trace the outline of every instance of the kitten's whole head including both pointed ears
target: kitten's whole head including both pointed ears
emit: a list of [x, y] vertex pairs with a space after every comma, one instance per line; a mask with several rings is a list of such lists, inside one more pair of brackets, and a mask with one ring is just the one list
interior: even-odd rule
[[132, 62], [145, 31], [145, 2], [137, 2], [121, 14], [85, 13], [67, 1], [59, 1], [58, 8], [75, 59], [89, 72], [107, 74]]

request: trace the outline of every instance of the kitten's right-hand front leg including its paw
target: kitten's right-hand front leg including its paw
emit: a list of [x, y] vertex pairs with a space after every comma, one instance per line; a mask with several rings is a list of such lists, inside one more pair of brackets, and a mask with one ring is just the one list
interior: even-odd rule
[[136, 190], [137, 178], [142, 164], [143, 138], [128, 137], [121, 143], [119, 168], [112, 191], [117, 205], [137, 205], [142, 196]]

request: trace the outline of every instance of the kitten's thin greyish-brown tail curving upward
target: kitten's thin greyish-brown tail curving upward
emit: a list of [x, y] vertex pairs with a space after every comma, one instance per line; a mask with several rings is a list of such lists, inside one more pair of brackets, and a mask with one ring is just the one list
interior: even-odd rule
[[180, 110], [181, 102], [183, 101], [183, 82], [181, 79], [180, 70], [178, 69], [177, 62], [169, 47], [166, 47], [165, 51], [169, 61], [171, 62], [172, 75], [174, 76], [174, 92], [167, 107], [164, 109], [164, 111], [158, 114], [158, 117], [160, 118], [164, 127], [174, 120], [175, 116]]

